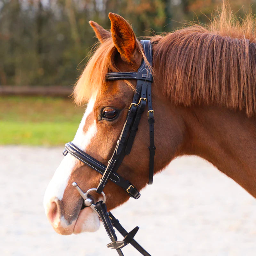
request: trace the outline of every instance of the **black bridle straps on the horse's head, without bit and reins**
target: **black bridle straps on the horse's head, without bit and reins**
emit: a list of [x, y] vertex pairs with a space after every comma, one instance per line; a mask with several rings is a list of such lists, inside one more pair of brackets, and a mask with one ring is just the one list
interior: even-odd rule
[[[139, 127], [140, 118], [144, 112], [146, 100], [148, 100], [148, 124], [149, 124], [149, 180], [148, 184], [152, 184], [154, 175], [154, 111], [152, 108], [151, 98], [151, 66], [152, 66], [152, 47], [149, 40], [140, 41], [146, 58], [150, 64], [148, 66], [143, 60], [138, 72], [116, 72], [108, 73], [107, 80], [116, 79], [137, 79], [136, 92], [134, 93], [132, 104], [130, 105], [126, 121], [123, 126], [123, 130], [120, 134], [119, 139], [116, 143], [116, 148], [110, 158], [107, 167], [101, 164], [93, 157], [87, 155], [82, 150], [77, 148], [72, 142], [65, 145], [65, 149], [73, 156], [78, 158], [83, 163], [90, 166], [92, 169], [100, 172], [102, 178], [97, 187], [97, 192], [100, 194], [107, 184], [108, 180], [112, 180], [117, 185], [121, 186], [125, 191], [133, 198], [139, 198], [140, 193], [137, 189], [129, 182], [124, 180], [116, 172], [122, 163], [124, 156], [131, 152], [133, 141], [135, 139], [136, 132]], [[103, 171], [104, 168], [104, 171]]]

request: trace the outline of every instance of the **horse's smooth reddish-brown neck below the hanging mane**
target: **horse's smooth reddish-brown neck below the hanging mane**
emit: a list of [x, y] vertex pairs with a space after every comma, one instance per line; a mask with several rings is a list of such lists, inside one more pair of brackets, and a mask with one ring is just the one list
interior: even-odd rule
[[201, 156], [256, 197], [256, 120], [244, 112], [198, 107], [183, 110], [180, 154]]

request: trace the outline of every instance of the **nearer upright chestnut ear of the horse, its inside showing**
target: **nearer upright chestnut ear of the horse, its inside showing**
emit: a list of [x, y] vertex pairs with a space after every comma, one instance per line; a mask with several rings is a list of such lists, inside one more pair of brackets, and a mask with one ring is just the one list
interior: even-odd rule
[[136, 48], [136, 37], [130, 24], [118, 14], [109, 12], [111, 21], [111, 34], [116, 49], [122, 59], [132, 62], [133, 53]]

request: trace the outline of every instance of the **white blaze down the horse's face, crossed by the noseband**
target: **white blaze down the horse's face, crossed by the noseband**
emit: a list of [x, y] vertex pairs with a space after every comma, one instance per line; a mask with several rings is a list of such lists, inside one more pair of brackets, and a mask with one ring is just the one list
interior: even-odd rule
[[[95, 136], [97, 132], [96, 120], [93, 120], [92, 125], [88, 128], [86, 133], [84, 133], [83, 131], [86, 118], [92, 113], [95, 98], [96, 97], [93, 97], [89, 101], [82, 121], [76, 132], [76, 136], [73, 140], [73, 143], [78, 148], [84, 151], [86, 150], [87, 146], [90, 144], [91, 139]], [[68, 184], [70, 174], [74, 169], [76, 163], [78, 163], [78, 160], [74, 156], [71, 156], [70, 154], [67, 154], [67, 156], [65, 156], [61, 161], [60, 166], [55, 171], [52, 180], [50, 181], [44, 194], [44, 210], [46, 213], [52, 198], [57, 197], [59, 200], [62, 200], [64, 191]]]

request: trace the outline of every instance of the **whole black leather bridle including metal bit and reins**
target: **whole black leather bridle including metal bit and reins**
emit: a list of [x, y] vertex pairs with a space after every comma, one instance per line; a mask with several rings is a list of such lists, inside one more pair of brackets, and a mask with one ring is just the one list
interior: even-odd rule
[[[136, 79], [136, 91], [133, 96], [132, 103], [129, 107], [129, 111], [120, 134], [119, 139], [116, 143], [116, 148], [113, 152], [112, 157], [108, 161], [108, 165], [104, 165], [97, 161], [92, 156], [89, 156], [80, 148], [76, 147], [72, 142], [68, 142], [65, 145], [65, 150], [63, 155], [66, 156], [70, 153], [72, 156], [79, 159], [84, 164], [90, 166], [95, 171], [102, 174], [102, 178], [100, 179], [100, 183], [97, 188], [89, 189], [90, 191], [96, 191], [99, 194], [102, 194], [105, 198], [105, 194], [103, 193], [103, 189], [107, 184], [108, 180], [113, 181], [118, 186], [123, 188], [129, 196], [138, 199], [140, 197], [139, 191], [133, 186], [129, 180], [125, 180], [118, 173], [117, 169], [122, 163], [124, 156], [128, 155], [131, 152], [132, 144], [135, 139], [136, 132], [138, 131], [139, 123], [141, 115], [143, 114], [146, 103], [148, 102], [148, 124], [149, 124], [149, 179], [148, 184], [153, 183], [153, 175], [154, 175], [154, 155], [155, 155], [155, 145], [154, 145], [154, 110], [152, 108], [152, 95], [151, 95], [151, 84], [152, 84], [152, 45], [149, 40], [141, 40], [144, 54], [148, 63], [144, 60], [142, 61], [140, 68], [137, 72], [116, 72], [116, 73], [108, 73], [106, 80], [129, 80]], [[149, 64], [149, 65], [148, 65]], [[148, 252], [146, 252], [140, 244], [138, 244], [133, 237], [138, 231], [138, 227], [134, 228], [131, 232], [127, 232], [119, 223], [119, 221], [111, 214], [111, 212], [107, 212], [105, 199], [103, 201], [99, 201], [96, 204], [93, 204], [93, 201], [90, 197], [88, 197], [87, 190], [84, 193], [76, 184], [73, 183], [80, 193], [80, 195], [84, 199], [84, 205], [86, 207], [90, 206], [93, 211], [95, 211], [100, 219], [103, 222], [103, 225], [108, 233], [109, 238], [111, 239], [111, 243], [107, 246], [109, 248], [116, 249], [119, 255], [123, 255], [121, 248], [123, 248], [127, 244], [132, 244], [142, 255], [150, 256]], [[124, 236], [123, 241], [117, 241], [117, 237], [115, 235], [115, 227], [121, 235]]]

